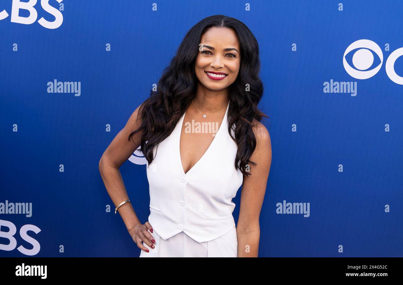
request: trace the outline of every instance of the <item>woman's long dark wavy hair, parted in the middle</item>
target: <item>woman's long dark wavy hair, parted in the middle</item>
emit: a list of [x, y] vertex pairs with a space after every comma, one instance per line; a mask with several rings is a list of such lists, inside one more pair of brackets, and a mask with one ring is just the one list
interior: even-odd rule
[[[137, 119], [141, 117], [141, 126], [129, 135], [129, 140], [142, 131], [141, 152], [149, 164], [154, 160], [154, 147], [172, 133], [196, 96], [198, 79], [195, 62], [199, 43], [202, 35], [211, 27], [233, 29], [239, 40], [241, 62], [237, 79], [228, 87], [230, 104], [227, 123], [229, 135], [238, 148], [235, 168], [244, 175], [250, 175], [247, 164], [256, 165], [256, 162], [249, 160], [256, 148], [253, 119], [260, 122], [262, 116], [269, 117], [257, 108], [263, 95], [263, 83], [259, 78], [258, 42], [244, 23], [232, 17], [214, 15], [204, 18], [186, 33], [176, 55], [158, 81], [158, 90], [151, 90], [150, 97], [141, 104], [137, 116]], [[249, 91], [246, 91], [248, 85]]]

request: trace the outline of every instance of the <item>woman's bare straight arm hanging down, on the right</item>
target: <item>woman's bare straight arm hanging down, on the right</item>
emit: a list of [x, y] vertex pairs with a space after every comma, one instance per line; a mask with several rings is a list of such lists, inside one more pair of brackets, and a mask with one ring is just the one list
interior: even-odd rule
[[251, 175], [243, 176], [237, 224], [238, 257], [258, 257], [259, 216], [272, 162], [270, 134], [262, 123], [255, 122], [257, 126], [253, 127], [253, 132], [256, 136], [256, 149], [249, 160], [257, 165], [250, 164]]

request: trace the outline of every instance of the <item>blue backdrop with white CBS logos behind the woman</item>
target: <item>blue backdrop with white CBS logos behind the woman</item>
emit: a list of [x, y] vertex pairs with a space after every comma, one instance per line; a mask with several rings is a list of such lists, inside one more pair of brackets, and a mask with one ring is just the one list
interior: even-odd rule
[[[0, 256], [139, 256], [98, 162], [185, 33], [216, 14], [260, 45], [272, 166], [259, 256], [403, 256], [403, 85], [385, 68], [403, 47], [403, 2], [50, 0], [33, 23], [12, 15], [18, 2], [0, 2]], [[389, 70], [403, 76], [399, 52]], [[55, 80], [76, 90], [50, 93]], [[133, 154], [120, 172], [144, 223], [143, 161]], [[309, 216], [280, 214], [283, 201]]]

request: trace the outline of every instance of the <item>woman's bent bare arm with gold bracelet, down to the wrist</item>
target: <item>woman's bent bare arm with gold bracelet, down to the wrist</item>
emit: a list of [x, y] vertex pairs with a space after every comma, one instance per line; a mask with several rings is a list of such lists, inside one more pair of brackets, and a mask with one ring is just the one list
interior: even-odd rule
[[[140, 106], [131, 114], [125, 127], [114, 137], [104, 154], [102, 154], [99, 162], [100, 174], [106, 190], [115, 205], [114, 208], [121, 202], [129, 199], [119, 168], [140, 146], [141, 131], [132, 136], [134, 143], [132, 140], [128, 140], [132, 130], [134, 131], [141, 125], [141, 119], [137, 120]], [[123, 218], [128, 231], [141, 223], [131, 203], [125, 203], [120, 206], [118, 212]]]

